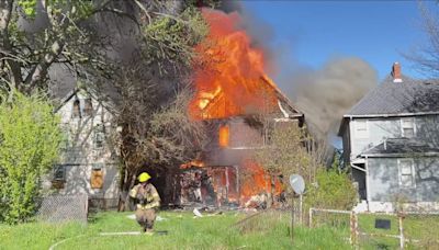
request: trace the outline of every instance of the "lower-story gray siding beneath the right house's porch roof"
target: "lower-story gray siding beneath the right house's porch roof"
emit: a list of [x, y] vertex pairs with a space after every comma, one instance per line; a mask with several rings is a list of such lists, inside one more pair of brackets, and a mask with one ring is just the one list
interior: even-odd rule
[[398, 159], [369, 158], [369, 194], [371, 202], [439, 202], [439, 158], [414, 158], [415, 186], [399, 185]]

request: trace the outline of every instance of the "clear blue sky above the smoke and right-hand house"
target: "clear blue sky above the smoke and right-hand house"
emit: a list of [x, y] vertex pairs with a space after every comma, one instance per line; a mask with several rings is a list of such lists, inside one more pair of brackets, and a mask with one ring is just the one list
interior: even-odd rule
[[369, 63], [380, 81], [394, 61], [404, 75], [424, 77], [402, 55], [426, 41], [417, 1], [247, 0], [243, 8], [257, 25], [271, 29], [269, 46], [282, 48], [292, 65], [318, 69], [331, 58], [353, 56]]

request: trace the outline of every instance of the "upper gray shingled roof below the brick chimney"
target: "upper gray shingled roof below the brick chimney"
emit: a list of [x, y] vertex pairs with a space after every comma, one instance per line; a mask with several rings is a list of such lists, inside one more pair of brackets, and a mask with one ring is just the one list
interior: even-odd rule
[[403, 76], [402, 82], [387, 77], [358, 102], [345, 117], [398, 116], [439, 112], [438, 81], [414, 80]]

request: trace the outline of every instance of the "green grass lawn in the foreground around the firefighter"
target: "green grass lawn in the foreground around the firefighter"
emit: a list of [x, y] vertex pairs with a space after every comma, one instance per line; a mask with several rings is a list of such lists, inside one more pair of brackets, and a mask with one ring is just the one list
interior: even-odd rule
[[0, 249], [351, 249], [344, 234], [326, 227], [294, 228], [288, 214], [266, 213], [236, 225], [245, 214], [193, 218], [191, 213], [161, 212], [156, 230], [167, 235], [100, 236], [100, 232], [139, 231], [132, 213], [99, 213], [87, 226], [30, 223], [0, 225]]

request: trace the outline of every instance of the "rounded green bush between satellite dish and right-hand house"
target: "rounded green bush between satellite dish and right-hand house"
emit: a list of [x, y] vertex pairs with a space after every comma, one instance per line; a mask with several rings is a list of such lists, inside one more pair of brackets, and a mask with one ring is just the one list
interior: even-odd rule
[[309, 207], [351, 209], [357, 201], [357, 190], [346, 172], [336, 169], [318, 169], [316, 184], [305, 195]]

